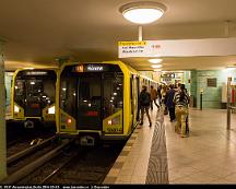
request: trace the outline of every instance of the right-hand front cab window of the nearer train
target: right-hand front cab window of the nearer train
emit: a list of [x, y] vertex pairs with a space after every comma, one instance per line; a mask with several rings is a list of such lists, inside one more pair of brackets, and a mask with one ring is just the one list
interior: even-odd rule
[[122, 73], [104, 74], [104, 118], [111, 116], [123, 107]]

